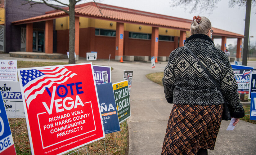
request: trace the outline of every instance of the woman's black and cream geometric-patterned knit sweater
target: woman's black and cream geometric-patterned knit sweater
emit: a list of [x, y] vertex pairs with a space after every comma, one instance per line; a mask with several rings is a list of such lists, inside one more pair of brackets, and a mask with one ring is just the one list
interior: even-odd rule
[[204, 34], [191, 35], [184, 45], [191, 49], [215, 78], [223, 96], [190, 52], [185, 47], [179, 47], [171, 52], [164, 69], [163, 85], [168, 103], [219, 105], [224, 103], [224, 97], [229, 103], [231, 117], [244, 117], [245, 111], [227, 55]]

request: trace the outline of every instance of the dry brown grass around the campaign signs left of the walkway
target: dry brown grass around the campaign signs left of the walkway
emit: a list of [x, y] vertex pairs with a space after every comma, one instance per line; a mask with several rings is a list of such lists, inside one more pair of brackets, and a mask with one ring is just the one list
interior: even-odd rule
[[[63, 65], [67, 63], [57, 63], [57, 62], [28, 62], [28, 61], [18, 61], [18, 68], [29, 68], [29, 67], [41, 67], [41, 66], [54, 66], [54, 65]], [[112, 70], [112, 68], [111, 68]], [[11, 127], [11, 133], [14, 140], [14, 145], [17, 154], [22, 155], [30, 155], [30, 143], [28, 130], [26, 125], [25, 118], [8, 118], [9, 124]], [[106, 152], [107, 154], [115, 154], [115, 155], [123, 155], [128, 154], [128, 126], [127, 122], [123, 122], [120, 124], [120, 128], [122, 131], [110, 133], [105, 135], [105, 144], [106, 144]], [[79, 150], [81, 149], [81, 150]], [[95, 141], [86, 147], [83, 146], [78, 148], [79, 152], [75, 152], [73, 154], [106, 154], [105, 146], [103, 139]], [[69, 152], [72, 153], [75, 150]], [[66, 153], [66, 154], [69, 154]]]

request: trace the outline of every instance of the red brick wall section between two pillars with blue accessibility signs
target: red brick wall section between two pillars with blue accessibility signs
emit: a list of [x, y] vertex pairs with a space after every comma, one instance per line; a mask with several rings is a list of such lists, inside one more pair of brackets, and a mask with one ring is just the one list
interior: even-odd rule
[[124, 55], [150, 56], [151, 40], [128, 38], [128, 52]]

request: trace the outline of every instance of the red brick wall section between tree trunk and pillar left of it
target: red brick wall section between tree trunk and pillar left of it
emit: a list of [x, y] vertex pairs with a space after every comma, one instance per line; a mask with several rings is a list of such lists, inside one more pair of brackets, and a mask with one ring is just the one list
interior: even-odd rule
[[69, 30], [57, 31], [57, 53], [67, 54], [69, 51]]

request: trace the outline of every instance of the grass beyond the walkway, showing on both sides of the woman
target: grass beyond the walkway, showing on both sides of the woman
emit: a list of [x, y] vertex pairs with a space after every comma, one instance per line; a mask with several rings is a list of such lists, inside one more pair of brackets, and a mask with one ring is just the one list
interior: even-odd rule
[[[151, 81], [161, 86], [163, 86], [163, 83], [162, 83], [163, 76], [164, 76], [164, 72], [150, 73], [146, 75], [148, 79], [150, 79]], [[256, 124], [256, 121], [250, 120], [250, 104], [244, 105], [244, 109], [245, 109], [245, 117], [241, 118], [240, 120]]]

